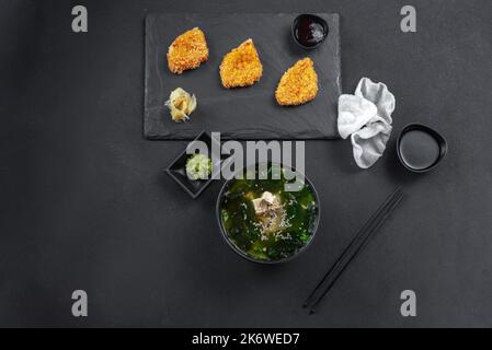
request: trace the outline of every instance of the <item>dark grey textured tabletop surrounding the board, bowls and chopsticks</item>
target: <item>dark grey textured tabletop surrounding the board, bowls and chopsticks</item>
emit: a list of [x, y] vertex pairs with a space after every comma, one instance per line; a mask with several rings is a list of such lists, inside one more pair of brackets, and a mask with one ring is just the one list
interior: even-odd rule
[[[0, 0], [1, 326], [492, 326], [492, 7], [408, 1]], [[385, 158], [359, 171], [348, 141], [307, 143], [323, 213], [313, 246], [285, 266], [221, 241], [220, 184], [192, 201], [161, 170], [185, 142], [142, 136], [144, 18], [149, 12], [339, 12], [345, 92], [361, 77], [397, 96], [450, 152], [428, 175]], [[328, 262], [397, 184], [407, 200], [325, 300], [300, 303]], [[73, 318], [71, 292], [89, 293]], [[399, 295], [417, 293], [417, 317]]]

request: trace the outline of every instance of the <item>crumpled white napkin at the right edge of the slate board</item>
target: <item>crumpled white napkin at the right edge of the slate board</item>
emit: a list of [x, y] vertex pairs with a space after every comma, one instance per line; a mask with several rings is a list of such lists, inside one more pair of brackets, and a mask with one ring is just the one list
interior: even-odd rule
[[394, 104], [388, 88], [368, 78], [361, 79], [354, 95], [340, 96], [339, 133], [343, 139], [352, 136], [354, 159], [359, 167], [373, 166], [385, 152]]

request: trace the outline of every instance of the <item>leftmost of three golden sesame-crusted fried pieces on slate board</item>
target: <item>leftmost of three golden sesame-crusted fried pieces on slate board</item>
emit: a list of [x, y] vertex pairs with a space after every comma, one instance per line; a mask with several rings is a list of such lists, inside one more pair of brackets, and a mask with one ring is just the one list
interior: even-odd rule
[[205, 34], [198, 27], [178, 36], [168, 50], [168, 67], [173, 73], [198, 68], [208, 59]]

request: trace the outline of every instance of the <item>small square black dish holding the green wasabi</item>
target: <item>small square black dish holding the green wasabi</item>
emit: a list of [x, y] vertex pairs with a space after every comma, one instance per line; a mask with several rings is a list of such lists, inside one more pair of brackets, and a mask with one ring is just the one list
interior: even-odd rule
[[[198, 133], [198, 136], [190, 143], [193, 144], [195, 141], [203, 141], [208, 148], [209, 154], [205, 154], [213, 161], [213, 171], [210, 176], [207, 179], [191, 179], [186, 174], [186, 161], [191, 156], [186, 153], [186, 149], [180, 153], [176, 159], [168, 166], [165, 172], [171, 176], [193, 199], [198, 198], [198, 196], [203, 192], [203, 190], [210, 185], [210, 183], [214, 179], [215, 172], [218, 172], [222, 165], [222, 162], [227, 159], [227, 156], [222, 156], [220, 154], [220, 143], [211, 138], [211, 136], [207, 131], [202, 131]], [[190, 145], [188, 144], [188, 145]], [[213, 144], [217, 147], [217, 150], [219, 150], [219, 154], [217, 154], [216, 161], [214, 163], [213, 152]], [[195, 152], [198, 153], [198, 152]]]

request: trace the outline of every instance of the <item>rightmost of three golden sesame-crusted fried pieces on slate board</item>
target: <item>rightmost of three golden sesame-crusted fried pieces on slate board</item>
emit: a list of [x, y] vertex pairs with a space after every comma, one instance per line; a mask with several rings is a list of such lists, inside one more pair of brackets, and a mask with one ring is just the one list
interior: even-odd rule
[[297, 61], [282, 75], [275, 98], [281, 106], [295, 106], [314, 100], [318, 94], [318, 74], [310, 58]]

